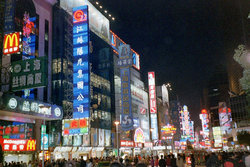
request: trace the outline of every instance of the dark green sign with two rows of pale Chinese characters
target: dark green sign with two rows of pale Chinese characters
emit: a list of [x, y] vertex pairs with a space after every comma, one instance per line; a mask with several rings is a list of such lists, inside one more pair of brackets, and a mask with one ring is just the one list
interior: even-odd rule
[[11, 64], [11, 68], [12, 91], [47, 85], [48, 63], [46, 57], [16, 61]]

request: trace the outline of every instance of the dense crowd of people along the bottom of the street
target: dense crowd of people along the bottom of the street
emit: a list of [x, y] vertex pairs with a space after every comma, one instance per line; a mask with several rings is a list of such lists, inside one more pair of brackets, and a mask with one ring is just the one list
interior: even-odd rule
[[[4, 163], [4, 167], [42, 167], [42, 161]], [[44, 167], [250, 167], [249, 152], [218, 152], [200, 154], [165, 154], [159, 156], [126, 156], [123, 158], [105, 157], [72, 160], [45, 161]]]

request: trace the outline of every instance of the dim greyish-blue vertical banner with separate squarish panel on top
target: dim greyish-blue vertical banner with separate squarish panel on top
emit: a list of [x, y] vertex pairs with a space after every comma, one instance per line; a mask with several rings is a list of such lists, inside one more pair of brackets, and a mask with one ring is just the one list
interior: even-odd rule
[[[119, 47], [119, 60], [123, 62], [130, 59], [130, 46], [122, 45]], [[119, 61], [118, 61], [119, 62]], [[126, 66], [120, 66], [121, 75], [121, 127], [122, 130], [134, 129], [134, 121], [132, 115], [132, 103], [131, 103], [131, 86], [130, 86], [130, 63], [126, 63]]]

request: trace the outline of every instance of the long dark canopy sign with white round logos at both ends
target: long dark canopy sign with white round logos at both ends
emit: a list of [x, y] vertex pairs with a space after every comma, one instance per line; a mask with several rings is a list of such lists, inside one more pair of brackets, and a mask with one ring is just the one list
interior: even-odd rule
[[18, 96], [4, 95], [0, 99], [2, 108], [7, 111], [33, 115], [36, 117], [56, 120], [62, 119], [63, 111], [60, 106], [35, 101], [31, 99], [23, 99]]

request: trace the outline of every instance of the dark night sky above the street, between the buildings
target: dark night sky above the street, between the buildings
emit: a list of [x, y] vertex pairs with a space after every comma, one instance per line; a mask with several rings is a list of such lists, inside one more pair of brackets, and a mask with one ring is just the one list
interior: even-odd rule
[[[230, 17], [224, 3], [229, 1], [98, 2], [116, 18], [111, 30], [140, 54], [145, 83], [148, 71], [156, 72], [157, 85], [170, 82], [181, 104], [188, 105], [191, 119], [200, 124], [196, 121], [202, 88], [216, 63], [224, 59], [225, 17]], [[234, 7], [234, 3], [230, 5]]]

